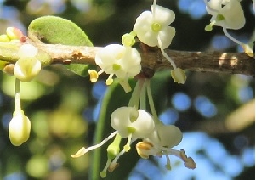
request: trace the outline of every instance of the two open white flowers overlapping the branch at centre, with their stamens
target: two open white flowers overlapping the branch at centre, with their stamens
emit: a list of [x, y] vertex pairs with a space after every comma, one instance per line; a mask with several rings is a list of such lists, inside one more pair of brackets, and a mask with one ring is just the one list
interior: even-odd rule
[[175, 36], [175, 28], [169, 26], [175, 19], [172, 10], [156, 5], [156, 0], [151, 6], [151, 11], [145, 11], [139, 15], [134, 24], [132, 32], [122, 36], [122, 45], [111, 44], [102, 48], [95, 57], [95, 62], [100, 66], [100, 71], [88, 70], [91, 82], [96, 82], [98, 76], [105, 72], [109, 74], [106, 84], [113, 82], [112, 77], [115, 75], [121, 80], [121, 85], [126, 92], [131, 91], [127, 79], [139, 74], [141, 70], [140, 54], [135, 48], [131, 48], [135, 41], [135, 37], [140, 42], [150, 46], [158, 47], [162, 51], [162, 55], [171, 63], [172, 77], [174, 82], [185, 83], [184, 70], [178, 69], [174, 61], [164, 52], [165, 48], [171, 44]]

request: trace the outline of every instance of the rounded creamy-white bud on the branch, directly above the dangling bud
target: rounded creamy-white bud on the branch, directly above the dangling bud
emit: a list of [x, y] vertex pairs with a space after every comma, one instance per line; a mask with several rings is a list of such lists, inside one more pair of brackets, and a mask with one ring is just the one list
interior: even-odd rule
[[14, 66], [14, 75], [21, 82], [30, 82], [41, 70], [41, 62], [36, 59], [38, 49], [31, 44], [23, 44], [18, 52], [19, 59]]

